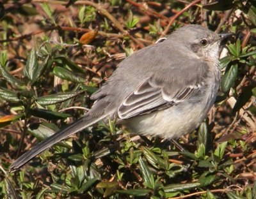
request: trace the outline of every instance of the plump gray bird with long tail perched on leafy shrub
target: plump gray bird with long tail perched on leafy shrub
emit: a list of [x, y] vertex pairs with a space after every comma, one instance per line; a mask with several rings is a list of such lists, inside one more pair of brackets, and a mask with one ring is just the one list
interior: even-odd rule
[[20, 156], [10, 170], [106, 117], [141, 135], [170, 139], [190, 133], [216, 99], [223, 38], [205, 27], [188, 25], [138, 50], [91, 96], [95, 103], [84, 117]]

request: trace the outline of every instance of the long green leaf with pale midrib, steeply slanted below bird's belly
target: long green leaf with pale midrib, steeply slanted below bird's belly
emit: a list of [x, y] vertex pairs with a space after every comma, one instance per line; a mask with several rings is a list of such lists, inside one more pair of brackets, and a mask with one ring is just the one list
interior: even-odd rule
[[145, 182], [145, 186], [148, 188], [154, 188], [154, 179], [153, 174], [150, 172], [148, 165], [145, 163], [145, 161], [141, 158], [139, 158], [139, 164], [141, 168], [141, 173], [143, 177], [143, 181]]

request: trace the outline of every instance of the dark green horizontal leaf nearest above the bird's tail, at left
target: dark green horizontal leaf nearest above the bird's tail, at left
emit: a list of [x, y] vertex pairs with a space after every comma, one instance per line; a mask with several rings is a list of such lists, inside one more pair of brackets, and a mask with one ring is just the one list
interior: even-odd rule
[[40, 117], [44, 118], [47, 120], [52, 120], [52, 119], [66, 119], [67, 117], [70, 117], [70, 114], [63, 114], [60, 112], [53, 112], [51, 110], [46, 110], [42, 108], [34, 108], [30, 110], [29, 112], [31, 115], [35, 117]]

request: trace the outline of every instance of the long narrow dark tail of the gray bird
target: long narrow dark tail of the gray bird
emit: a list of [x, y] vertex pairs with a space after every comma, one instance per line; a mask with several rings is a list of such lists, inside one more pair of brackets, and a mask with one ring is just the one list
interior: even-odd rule
[[70, 126], [67, 126], [67, 128], [61, 129], [54, 135], [50, 136], [49, 138], [46, 138], [44, 141], [40, 142], [40, 144], [33, 147], [31, 150], [25, 152], [22, 156], [20, 156], [12, 165], [10, 166], [10, 171], [15, 171], [19, 169], [21, 166], [28, 163], [29, 160], [34, 158], [36, 155], [40, 154], [40, 152], [45, 151], [45, 149], [48, 149], [52, 145], [56, 144], [57, 142], [60, 142], [61, 140], [67, 138], [68, 136], [77, 133], [78, 131], [81, 131], [84, 128], [87, 128], [88, 126], [91, 126], [92, 124], [95, 124], [96, 122], [100, 121], [104, 118], [106, 115], [101, 115], [100, 117], [90, 117], [90, 115], [85, 115], [78, 121], [74, 122], [73, 124], [70, 124]]

